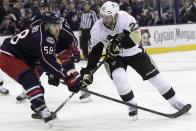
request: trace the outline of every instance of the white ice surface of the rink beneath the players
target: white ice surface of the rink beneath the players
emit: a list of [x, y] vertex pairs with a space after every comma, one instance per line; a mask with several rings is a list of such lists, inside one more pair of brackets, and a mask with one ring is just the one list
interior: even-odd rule
[[[43, 121], [31, 118], [28, 102], [16, 104], [15, 98], [22, 88], [3, 74], [4, 86], [10, 90], [10, 95], [0, 95], [0, 131], [196, 131], [196, 51], [152, 55], [152, 58], [178, 97], [192, 104], [190, 113], [169, 119], [140, 110], [139, 120], [132, 121], [125, 105], [96, 96], [92, 96], [93, 102], [84, 104], [79, 101], [78, 93], [58, 113], [54, 126], [48, 129]], [[77, 69], [85, 65], [86, 62], [82, 61], [77, 64]], [[138, 105], [164, 113], [175, 112], [157, 90], [148, 82], [143, 82], [135, 71], [128, 68], [127, 72]], [[47, 105], [55, 110], [70, 92], [63, 85], [49, 86], [46, 76], [41, 81], [46, 90]], [[120, 99], [103, 67], [95, 73], [94, 83], [89, 89]]]

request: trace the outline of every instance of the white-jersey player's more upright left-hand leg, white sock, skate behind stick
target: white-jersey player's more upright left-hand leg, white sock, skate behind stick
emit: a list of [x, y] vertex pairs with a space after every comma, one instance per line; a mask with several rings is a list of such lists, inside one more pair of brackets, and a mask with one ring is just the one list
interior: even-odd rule
[[[111, 76], [121, 99], [125, 102], [136, 105], [137, 103], [134, 100], [133, 91], [128, 82], [126, 65], [124, 65], [118, 57], [114, 59], [109, 58], [107, 60], [107, 64], [108, 66], [105, 65], [106, 70]], [[137, 109], [134, 107], [129, 107], [128, 110], [129, 116], [133, 117], [134, 120], [137, 120]]]

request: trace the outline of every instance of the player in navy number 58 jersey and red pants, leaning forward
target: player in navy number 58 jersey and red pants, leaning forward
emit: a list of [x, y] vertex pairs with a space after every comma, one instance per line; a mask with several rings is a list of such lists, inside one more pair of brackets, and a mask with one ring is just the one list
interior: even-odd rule
[[60, 25], [57, 14], [45, 13], [40, 25], [5, 39], [0, 52], [1, 70], [23, 86], [31, 108], [45, 122], [52, 120], [54, 116], [46, 106], [44, 88], [34, 71], [37, 61], [45, 71], [62, 79], [70, 91], [79, 91], [78, 72], [62, 68], [54, 53]]

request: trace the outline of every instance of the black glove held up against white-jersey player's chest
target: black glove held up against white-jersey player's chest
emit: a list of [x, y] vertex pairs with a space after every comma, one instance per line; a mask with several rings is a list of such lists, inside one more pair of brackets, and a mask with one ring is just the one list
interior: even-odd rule
[[106, 53], [111, 56], [115, 57], [122, 52], [122, 45], [121, 40], [124, 37], [124, 34], [116, 34], [115, 36], [107, 36], [108, 46], [106, 49]]

